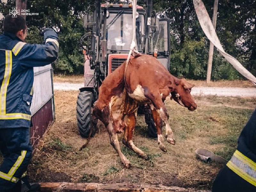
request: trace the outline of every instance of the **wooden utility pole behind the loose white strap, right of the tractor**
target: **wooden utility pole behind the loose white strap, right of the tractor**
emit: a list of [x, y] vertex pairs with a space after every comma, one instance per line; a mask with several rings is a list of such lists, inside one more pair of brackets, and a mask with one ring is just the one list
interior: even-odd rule
[[[218, 0], [214, 0], [213, 16], [212, 16], [212, 25], [213, 25], [214, 30], [216, 29], [217, 10], [218, 10]], [[214, 48], [214, 46], [213, 46], [212, 42], [210, 42], [209, 58], [208, 58], [208, 65], [207, 65], [207, 77], [206, 77], [207, 84], [209, 84], [211, 82], [213, 48]]]

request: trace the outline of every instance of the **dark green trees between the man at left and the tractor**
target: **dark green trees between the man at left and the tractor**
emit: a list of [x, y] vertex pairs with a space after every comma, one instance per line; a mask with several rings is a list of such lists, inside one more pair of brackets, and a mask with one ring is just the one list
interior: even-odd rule
[[[84, 10], [94, 1], [27, 1], [27, 9], [39, 15], [27, 16], [28, 43], [43, 43], [43, 38], [38, 36], [43, 28], [54, 28], [59, 35], [59, 58], [58, 65], [54, 67], [60, 73], [83, 73], [83, 53], [79, 41], [84, 34], [82, 26]], [[0, 3], [3, 15], [9, 13], [9, 8], [15, 6], [15, 1], [8, 0], [6, 4]], [[2, 30], [2, 21], [0, 22]], [[2, 32], [2, 31], [0, 31]]]

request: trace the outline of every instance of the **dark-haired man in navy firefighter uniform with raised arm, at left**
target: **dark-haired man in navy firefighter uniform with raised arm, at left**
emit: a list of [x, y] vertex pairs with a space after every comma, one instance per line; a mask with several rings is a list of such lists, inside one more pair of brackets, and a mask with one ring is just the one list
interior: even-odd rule
[[[33, 67], [45, 66], [57, 59], [58, 35], [44, 30], [45, 44], [25, 43], [26, 21], [20, 16], [4, 18], [4, 34], [0, 36], [0, 150], [4, 160], [0, 166], [0, 191], [21, 191], [32, 155], [29, 127], [33, 97]], [[22, 182], [22, 183], [21, 183]], [[25, 185], [24, 185], [25, 186]], [[22, 188], [24, 187], [22, 186]]]

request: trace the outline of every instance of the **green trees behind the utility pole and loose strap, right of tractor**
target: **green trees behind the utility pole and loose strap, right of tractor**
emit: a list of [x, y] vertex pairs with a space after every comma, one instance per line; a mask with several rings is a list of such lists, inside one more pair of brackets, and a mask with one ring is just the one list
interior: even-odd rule
[[[212, 18], [213, 1], [204, 5]], [[242, 61], [253, 75], [256, 75], [256, 1], [219, 1], [216, 33], [227, 53]], [[176, 76], [205, 79], [208, 62], [209, 41], [199, 25], [192, 0], [154, 1], [159, 15], [171, 20], [171, 66]], [[199, 43], [201, 42], [201, 43]], [[193, 50], [195, 49], [195, 50]], [[246, 58], [246, 59], [244, 59]], [[212, 62], [212, 80], [237, 79], [242, 76], [225, 60], [217, 50]]]

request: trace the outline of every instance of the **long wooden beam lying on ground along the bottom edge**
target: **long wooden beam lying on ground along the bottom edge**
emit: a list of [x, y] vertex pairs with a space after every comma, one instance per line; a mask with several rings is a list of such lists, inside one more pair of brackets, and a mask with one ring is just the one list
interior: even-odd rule
[[94, 191], [94, 192], [210, 192], [193, 188], [168, 187], [163, 185], [148, 185], [139, 183], [41, 183], [42, 192]]

